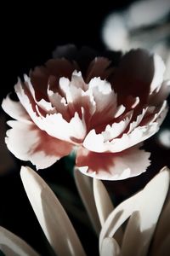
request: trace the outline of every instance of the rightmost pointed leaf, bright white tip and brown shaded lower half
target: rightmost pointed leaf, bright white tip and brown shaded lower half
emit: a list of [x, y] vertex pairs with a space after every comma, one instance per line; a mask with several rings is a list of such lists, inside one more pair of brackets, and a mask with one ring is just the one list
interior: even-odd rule
[[123, 236], [123, 255], [147, 255], [161, 208], [167, 196], [169, 181], [170, 172], [164, 168], [145, 186], [139, 198], [138, 210], [129, 219]]

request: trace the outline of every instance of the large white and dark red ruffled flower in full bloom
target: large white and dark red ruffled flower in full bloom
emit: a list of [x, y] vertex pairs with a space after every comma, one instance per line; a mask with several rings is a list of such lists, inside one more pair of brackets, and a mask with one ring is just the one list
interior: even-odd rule
[[[8, 149], [37, 169], [77, 152], [76, 165], [88, 176], [124, 179], [145, 172], [150, 153], [140, 147], [158, 131], [167, 113], [169, 81], [161, 57], [133, 49], [116, 57], [95, 57], [70, 45], [36, 67], [9, 96]], [[64, 56], [65, 58], [62, 58]]]

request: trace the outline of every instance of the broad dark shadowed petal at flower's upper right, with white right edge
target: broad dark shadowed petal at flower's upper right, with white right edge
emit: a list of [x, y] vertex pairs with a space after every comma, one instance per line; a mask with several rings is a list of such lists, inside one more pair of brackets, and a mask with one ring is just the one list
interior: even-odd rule
[[123, 55], [111, 80], [119, 103], [123, 103], [126, 96], [139, 96], [140, 102], [146, 103], [149, 94], [160, 86], [164, 71], [161, 57], [150, 55], [144, 49], [133, 49]]

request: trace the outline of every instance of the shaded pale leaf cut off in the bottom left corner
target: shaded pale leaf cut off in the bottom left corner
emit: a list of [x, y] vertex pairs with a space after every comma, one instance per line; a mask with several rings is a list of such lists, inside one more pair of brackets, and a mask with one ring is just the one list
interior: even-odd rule
[[6, 256], [22, 255], [22, 256], [38, 256], [27, 243], [15, 236], [10, 231], [0, 227], [0, 248]]

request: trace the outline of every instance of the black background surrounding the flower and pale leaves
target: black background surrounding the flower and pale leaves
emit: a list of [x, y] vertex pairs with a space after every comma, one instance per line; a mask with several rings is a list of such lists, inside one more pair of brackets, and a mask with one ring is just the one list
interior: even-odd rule
[[[17, 77], [47, 61], [57, 45], [76, 44], [78, 47], [88, 45], [94, 49], [105, 49], [100, 37], [102, 22], [106, 15], [113, 10], [126, 8], [128, 3], [132, 1], [111, 1], [111, 3], [56, 1], [53, 4], [46, 1], [39, 3], [38, 6], [31, 2], [20, 3], [14, 9], [8, 3], [8, 6], [4, 7], [4, 18], [1, 21], [3, 43], [1, 101], [10, 90], [13, 90]], [[6, 115], [5, 118], [8, 119]], [[169, 115], [162, 127], [167, 126], [169, 127]], [[5, 129], [7, 128], [6, 126]], [[148, 172], [126, 181], [105, 183], [111, 194], [115, 195], [115, 203], [142, 188], [162, 166], [170, 166], [170, 152], [162, 148], [156, 138], [156, 136], [152, 137], [145, 143], [145, 148], [152, 152], [152, 166]], [[42, 255], [48, 255], [48, 245], [20, 181], [20, 165], [26, 163], [21, 163], [14, 157], [13, 160], [14, 167], [10, 167], [0, 176], [0, 225], [22, 237]], [[39, 174], [55, 190], [75, 225], [88, 255], [97, 255], [98, 240], [94, 231], [86, 221], [75, 218], [74, 207], [75, 209], [79, 207], [82, 212], [83, 207], [65, 159], [59, 160], [54, 166], [40, 171]], [[66, 192], [62, 193], [62, 189], [59, 191], [57, 188], [65, 188], [66, 192], [74, 197], [72, 206], [68, 196], [65, 195]], [[85, 215], [85, 218], [88, 222], [88, 216]]]

